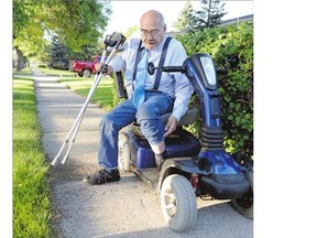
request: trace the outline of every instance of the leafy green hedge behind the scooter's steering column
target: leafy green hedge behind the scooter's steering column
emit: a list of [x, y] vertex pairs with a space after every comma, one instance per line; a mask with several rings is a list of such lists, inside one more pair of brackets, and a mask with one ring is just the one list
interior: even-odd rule
[[[218, 78], [225, 148], [230, 153], [253, 156], [253, 24], [205, 29], [176, 39], [188, 55], [208, 53], [218, 68], [229, 67], [226, 60], [232, 55], [240, 58], [237, 68], [230, 68], [226, 76]], [[195, 97], [190, 104], [199, 106]], [[199, 137], [200, 121], [188, 130]]]

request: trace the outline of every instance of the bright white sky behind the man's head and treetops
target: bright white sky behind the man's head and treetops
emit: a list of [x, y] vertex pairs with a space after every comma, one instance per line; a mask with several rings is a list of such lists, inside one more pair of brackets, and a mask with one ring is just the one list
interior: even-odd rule
[[[193, 8], [199, 9], [200, 1], [190, 1]], [[253, 13], [253, 1], [223, 1], [225, 11], [228, 12], [222, 20], [238, 18]], [[139, 20], [147, 10], [156, 9], [161, 11], [166, 21], [167, 32], [173, 31], [173, 22], [177, 21], [178, 14], [184, 8], [186, 1], [110, 1], [112, 7], [112, 15], [107, 25], [106, 33], [125, 32], [133, 25], [139, 25]]]

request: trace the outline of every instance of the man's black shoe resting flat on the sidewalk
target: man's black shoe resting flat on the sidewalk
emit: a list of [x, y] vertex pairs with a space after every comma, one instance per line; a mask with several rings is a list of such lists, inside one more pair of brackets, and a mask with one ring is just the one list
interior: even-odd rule
[[88, 175], [84, 178], [84, 182], [91, 185], [111, 183], [117, 181], [120, 181], [119, 170], [112, 170], [111, 172], [108, 172], [106, 169], [102, 169], [97, 173]]

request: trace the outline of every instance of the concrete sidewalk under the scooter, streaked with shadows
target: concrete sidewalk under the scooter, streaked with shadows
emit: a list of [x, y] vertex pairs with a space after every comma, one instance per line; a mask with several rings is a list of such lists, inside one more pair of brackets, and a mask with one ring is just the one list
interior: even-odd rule
[[[34, 69], [39, 120], [50, 162], [66, 139], [85, 98]], [[65, 165], [51, 169], [52, 199], [59, 237], [209, 237], [251, 238], [253, 220], [239, 215], [229, 203], [197, 198], [196, 227], [176, 234], [165, 224], [158, 196], [132, 173], [121, 173], [118, 183], [90, 186], [83, 177], [97, 165], [98, 125], [103, 110], [89, 105]]]

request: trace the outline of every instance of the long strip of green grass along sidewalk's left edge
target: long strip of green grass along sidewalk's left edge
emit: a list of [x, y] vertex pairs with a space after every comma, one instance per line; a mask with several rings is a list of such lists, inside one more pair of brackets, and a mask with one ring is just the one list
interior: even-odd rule
[[13, 236], [52, 237], [48, 166], [32, 79], [13, 79]]

